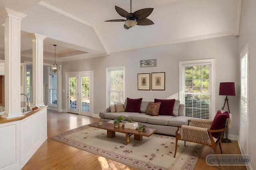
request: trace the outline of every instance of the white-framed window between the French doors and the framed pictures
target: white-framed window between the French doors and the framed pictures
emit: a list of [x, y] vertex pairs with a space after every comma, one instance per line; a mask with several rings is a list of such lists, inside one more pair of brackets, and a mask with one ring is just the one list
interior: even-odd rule
[[124, 103], [125, 92], [125, 67], [106, 68], [106, 105]]

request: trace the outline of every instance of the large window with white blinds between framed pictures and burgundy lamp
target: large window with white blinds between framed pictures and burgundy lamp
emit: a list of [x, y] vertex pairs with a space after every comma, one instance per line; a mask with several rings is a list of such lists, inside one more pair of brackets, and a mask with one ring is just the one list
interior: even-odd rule
[[180, 61], [180, 102], [185, 105], [185, 116], [212, 119], [214, 84], [214, 59]]

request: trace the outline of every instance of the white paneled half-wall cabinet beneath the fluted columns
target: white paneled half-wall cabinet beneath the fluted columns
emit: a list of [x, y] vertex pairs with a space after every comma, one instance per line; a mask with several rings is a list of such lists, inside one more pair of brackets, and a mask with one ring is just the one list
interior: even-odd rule
[[0, 123], [0, 170], [20, 170], [47, 139], [47, 107], [20, 120]]

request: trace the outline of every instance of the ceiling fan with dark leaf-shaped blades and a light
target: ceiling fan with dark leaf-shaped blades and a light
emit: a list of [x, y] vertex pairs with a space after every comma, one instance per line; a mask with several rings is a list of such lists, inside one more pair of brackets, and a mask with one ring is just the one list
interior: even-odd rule
[[138, 26], [148, 26], [154, 24], [151, 20], [149, 20], [147, 17], [152, 13], [154, 8], [144, 8], [138, 11], [135, 11], [132, 13], [132, 0], [131, 0], [131, 12], [127, 12], [126, 10], [115, 6], [116, 12], [126, 18], [126, 20], [123, 19], [116, 19], [116, 20], [107, 20], [105, 22], [123, 22], [124, 21], [124, 28], [128, 30], [129, 28], [138, 25]]

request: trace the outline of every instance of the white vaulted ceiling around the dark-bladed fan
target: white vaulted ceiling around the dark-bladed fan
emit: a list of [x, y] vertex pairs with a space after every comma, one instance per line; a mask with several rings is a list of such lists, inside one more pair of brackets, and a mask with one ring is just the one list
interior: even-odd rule
[[[132, 0], [132, 12], [154, 8], [150, 26], [124, 29], [114, 6], [130, 12], [130, 0], [0, 0], [27, 16], [21, 21], [21, 53], [32, 54], [29, 34], [47, 36], [44, 59], [70, 61], [170, 43], [237, 35], [240, 0]], [[0, 18], [0, 24], [4, 19]], [[4, 26], [0, 26], [4, 51]]]

